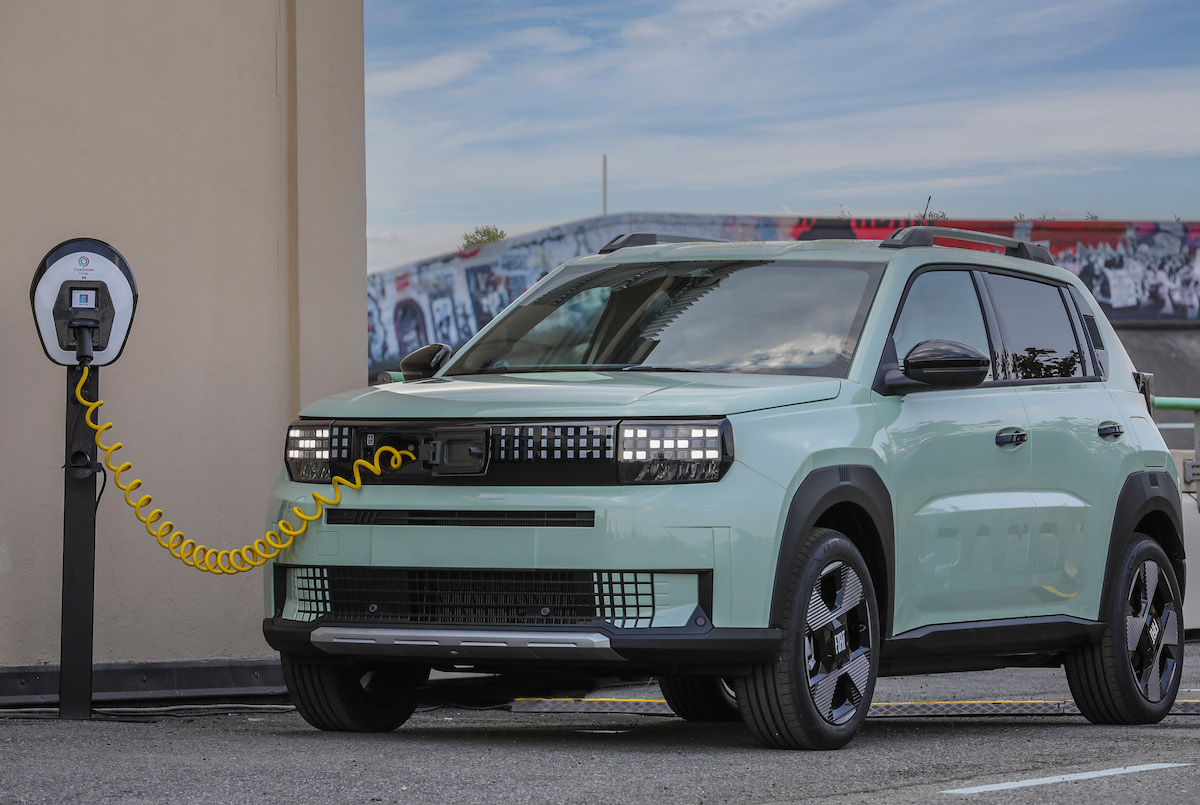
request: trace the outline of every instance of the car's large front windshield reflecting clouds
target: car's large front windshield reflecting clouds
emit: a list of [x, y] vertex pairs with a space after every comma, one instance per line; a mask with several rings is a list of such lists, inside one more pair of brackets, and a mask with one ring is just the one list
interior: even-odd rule
[[571, 266], [509, 308], [446, 374], [845, 377], [882, 270], [811, 260]]

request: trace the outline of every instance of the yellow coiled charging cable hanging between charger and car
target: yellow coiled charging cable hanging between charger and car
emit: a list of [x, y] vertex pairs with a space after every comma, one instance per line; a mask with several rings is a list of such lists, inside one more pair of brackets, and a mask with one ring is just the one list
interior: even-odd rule
[[[149, 494], [143, 494], [134, 501], [130, 497], [134, 489], [142, 486], [142, 479], [133, 479], [128, 483], [121, 480], [121, 473], [131, 469], [133, 464], [127, 461], [119, 465], [113, 464], [113, 453], [120, 450], [124, 445], [120, 441], [106, 445], [100, 440], [101, 434], [113, 427], [113, 423], [96, 423], [94, 415], [96, 410], [104, 404], [104, 401], [97, 400], [96, 402], [89, 402], [88, 400], [84, 400], [83, 385], [86, 382], [88, 366], [84, 366], [79, 383], [76, 384], [76, 400], [79, 401], [80, 405], [88, 409], [84, 420], [88, 422], [88, 427], [96, 432], [96, 447], [104, 451], [104, 465], [112, 470], [113, 482], [116, 483], [121, 492], [125, 493], [125, 503], [133, 509], [133, 515], [146, 527], [146, 533], [155, 537], [158, 541], [158, 545], [166, 548], [170, 555], [175, 557], [188, 567], [194, 567], [196, 570], [206, 573], [244, 573], [247, 570], [263, 566], [268, 559], [277, 557], [280, 551], [289, 547], [295, 541], [295, 537], [304, 534], [308, 528], [308, 523], [320, 519], [322, 513], [325, 511], [325, 506], [337, 506], [342, 503], [341, 487], [348, 486], [352, 489], [360, 488], [362, 486], [361, 470], [365, 469], [374, 475], [383, 475], [383, 467], [380, 465], [380, 462], [384, 456], [390, 457], [389, 463], [391, 469], [398, 469], [406, 458], [409, 461], [416, 461], [416, 456], [408, 450], [379, 447], [374, 453], [373, 462], [368, 462], [362, 458], [354, 462], [353, 481], [348, 481], [340, 475], [334, 476], [331, 482], [334, 487], [332, 499], [324, 497], [319, 492], [313, 492], [312, 499], [313, 503], [317, 504], [317, 510], [311, 515], [305, 513], [300, 506], [292, 506], [292, 512], [300, 519], [299, 528], [294, 528], [287, 519], [281, 519], [275, 525], [278, 531], [268, 531], [263, 539], [254, 540], [250, 545], [240, 548], [218, 551], [216, 548], [210, 548], [206, 545], [202, 545], [196, 540], [187, 539], [182, 531], [175, 530], [175, 524], [173, 522], [162, 518], [162, 509], [152, 509], [148, 515], [142, 513], [142, 510], [150, 505], [151, 498]], [[283, 536], [281, 536], [281, 534]]]

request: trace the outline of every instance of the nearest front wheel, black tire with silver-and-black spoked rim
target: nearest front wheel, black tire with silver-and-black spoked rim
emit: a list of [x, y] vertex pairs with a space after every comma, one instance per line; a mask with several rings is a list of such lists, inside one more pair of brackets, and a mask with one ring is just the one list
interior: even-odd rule
[[755, 737], [775, 749], [848, 744], [875, 692], [878, 621], [858, 548], [839, 531], [812, 529], [788, 583], [779, 653], [738, 678], [738, 707]]

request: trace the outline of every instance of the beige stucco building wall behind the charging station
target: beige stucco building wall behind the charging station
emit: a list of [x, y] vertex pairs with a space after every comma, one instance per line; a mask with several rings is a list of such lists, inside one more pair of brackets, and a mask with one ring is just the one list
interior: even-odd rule
[[[140, 299], [102, 419], [188, 536], [244, 545], [299, 407], [366, 377], [362, 126], [359, 2], [0, 0], [0, 667], [59, 656], [67, 370], [38, 262], [124, 253]], [[109, 479], [97, 662], [269, 656], [260, 599], [259, 572], [158, 548]]]

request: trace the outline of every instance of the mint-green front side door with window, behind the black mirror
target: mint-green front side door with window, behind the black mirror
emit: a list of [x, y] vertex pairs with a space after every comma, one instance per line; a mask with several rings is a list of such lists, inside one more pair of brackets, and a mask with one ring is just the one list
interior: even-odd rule
[[966, 343], [992, 356], [984, 383], [876, 397], [895, 517], [896, 635], [1025, 612], [1036, 516], [1021, 440], [1028, 422], [1016, 390], [995, 372], [976, 283], [966, 268], [918, 274], [890, 344], [902, 366], [922, 341]]

